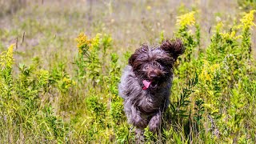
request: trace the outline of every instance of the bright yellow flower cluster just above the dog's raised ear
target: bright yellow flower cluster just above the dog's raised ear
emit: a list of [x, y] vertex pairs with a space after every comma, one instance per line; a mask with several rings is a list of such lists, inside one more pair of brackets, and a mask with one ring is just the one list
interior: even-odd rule
[[176, 25], [181, 26], [182, 28], [186, 26], [194, 26], [195, 23], [195, 18], [194, 18], [194, 11], [188, 13], [188, 14], [183, 14], [182, 16], [179, 16], [177, 18]]

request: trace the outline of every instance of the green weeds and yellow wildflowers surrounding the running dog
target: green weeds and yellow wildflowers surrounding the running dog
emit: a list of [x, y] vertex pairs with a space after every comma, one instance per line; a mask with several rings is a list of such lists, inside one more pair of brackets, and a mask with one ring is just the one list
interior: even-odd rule
[[[152, 134], [146, 128], [146, 143], [255, 143], [255, 10], [234, 18], [231, 24], [217, 22], [207, 43], [198, 22], [200, 14], [194, 9], [181, 6], [181, 14], [175, 18], [174, 37], [182, 39], [186, 52], [175, 64], [162, 131]], [[29, 30], [30, 43], [23, 44], [25, 33], [20, 40], [22, 46], [18, 38], [8, 49], [0, 42], [0, 142], [134, 142], [134, 127], [127, 124], [118, 96], [122, 67], [132, 50], [119, 51], [120, 44], [111, 33], [90, 37], [82, 32], [71, 37], [77, 49], [72, 48], [70, 54], [74, 57], [70, 58], [62, 54], [69, 38], [53, 36], [51, 23], [42, 25], [31, 18], [20, 25], [22, 30]], [[56, 34], [64, 30], [59, 25], [54, 29]], [[0, 39], [22, 30], [0, 28]], [[171, 34], [166, 33], [161, 31], [155, 41], [170, 38]], [[36, 44], [32, 39], [40, 34], [45, 39]], [[34, 45], [35, 53], [43, 53], [44, 47], [60, 49], [41, 57], [31, 54], [35, 57], [30, 60], [30, 53], [23, 52], [30, 45]]]

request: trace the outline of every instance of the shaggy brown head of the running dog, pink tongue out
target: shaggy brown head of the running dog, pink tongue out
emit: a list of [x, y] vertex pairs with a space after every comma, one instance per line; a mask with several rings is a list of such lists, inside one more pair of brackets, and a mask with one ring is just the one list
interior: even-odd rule
[[184, 51], [180, 39], [163, 41], [161, 46], [156, 48], [144, 44], [130, 56], [129, 65], [142, 80], [143, 89], [154, 89], [171, 76], [174, 62]]

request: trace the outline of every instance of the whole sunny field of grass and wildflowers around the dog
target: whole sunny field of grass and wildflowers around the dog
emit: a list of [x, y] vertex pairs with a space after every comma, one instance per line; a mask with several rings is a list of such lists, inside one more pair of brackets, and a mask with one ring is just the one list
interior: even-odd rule
[[118, 82], [142, 43], [181, 38], [145, 143], [256, 142], [254, 0], [0, 0], [0, 143], [134, 143]]

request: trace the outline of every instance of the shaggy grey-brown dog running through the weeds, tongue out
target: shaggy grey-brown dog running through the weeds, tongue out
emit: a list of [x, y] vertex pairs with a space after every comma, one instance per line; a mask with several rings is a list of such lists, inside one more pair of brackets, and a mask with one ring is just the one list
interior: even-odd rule
[[161, 115], [170, 103], [174, 62], [184, 51], [180, 39], [164, 40], [157, 47], [143, 44], [130, 56], [118, 91], [127, 120], [138, 131], [146, 126], [154, 133], [159, 130]]

